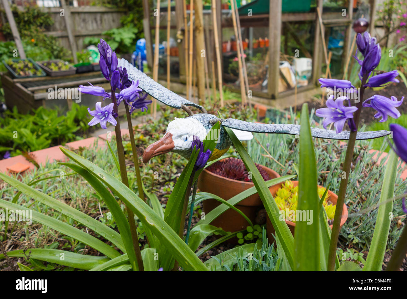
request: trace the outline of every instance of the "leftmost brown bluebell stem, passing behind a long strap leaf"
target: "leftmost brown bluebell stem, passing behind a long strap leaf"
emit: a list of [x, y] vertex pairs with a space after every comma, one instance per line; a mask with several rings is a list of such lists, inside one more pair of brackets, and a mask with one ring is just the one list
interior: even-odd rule
[[[112, 90], [112, 102], [114, 105], [114, 112], [117, 113], [118, 109], [117, 109], [117, 103], [116, 103], [116, 94], [113, 90]], [[122, 133], [120, 131], [119, 122], [117, 122], [117, 125], [114, 127], [114, 130], [116, 132], [116, 144], [117, 144], [117, 155], [118, 155], [119, 166], [120, 166], [120, 176], [122, 178], [123, 184], [125, 184], [127, 187], [129, 187], [129, 179], [127, 178], [127, 170], [126, 170], [125, 151], [123, 148]], [[137, 227], [136, 227], [136, 222], [134, 220], [134, 214], [133, 214], [133, 211], [131, 211], [131, 209], [127, 205], [126, 205], [126, 212], [127, 212], [127, 217], [129, 220], [129, 226], [130, 226], [131, 238], [133, 240], [134, 252], [136, 253], [138, 270], [144, 271], [144, 265], [143, 265], [143, 260], [141, 257], [140, 246], [138, 245]]]

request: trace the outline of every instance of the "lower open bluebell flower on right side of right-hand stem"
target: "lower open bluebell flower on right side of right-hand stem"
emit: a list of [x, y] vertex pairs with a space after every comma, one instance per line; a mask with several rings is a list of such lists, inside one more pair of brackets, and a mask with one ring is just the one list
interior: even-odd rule
[[[382, 117], [379, 122], [385, 122], [387, 120], [387, 116], [391, 116], [392, 118], [400, 117], [400, 112], [398, 112], [395, 107], [399, 107], [403, 103], [403, 100], [404, 96], [401, 98], [401, 100], [397, 101], [395, 96], [386, 98], [385, 96], [375, 94], [363, 102], [363, 107], [372, 107], [375, 109], [377, 113], [374, 115], [374, 117]], [[370, 103], [368, 103], [368, 101], [370, 101]]]

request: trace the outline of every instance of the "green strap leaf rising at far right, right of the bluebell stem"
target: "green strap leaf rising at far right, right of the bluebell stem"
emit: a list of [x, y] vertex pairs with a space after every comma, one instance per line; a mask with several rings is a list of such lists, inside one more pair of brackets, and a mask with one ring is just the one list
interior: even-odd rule
[[389, 237], [391, 213], [393, 210], [394, 184], [397, 177], [398, 157], [394, 151], [389, 153], [386, 170], [377, 211], [376, 225], [374, 226], [372, 242], [363, 271], [381, 271], [387, 238]]

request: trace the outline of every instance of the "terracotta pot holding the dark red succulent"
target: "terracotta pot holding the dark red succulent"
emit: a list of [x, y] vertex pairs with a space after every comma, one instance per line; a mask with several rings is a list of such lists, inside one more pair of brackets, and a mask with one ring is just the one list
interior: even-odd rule
[[[278, 175], [278, 173], [274, 170], [271, 170], [265, 166], [262, 167], [267, 171], [272, 179], [280, 177], [280, 175]], [[221, 177], [220, 175], [215, 175], [206, 169], [201, 172], [201, 175], [198, 178], [199, 190], [202, 192], [215, 194], [224, 200], [228, 200], [253, 186], [254, 184], [251, 182], [236, 181], [226, 177]], [[271, 186], [269, 190], [270, 192], [275, 193], [279, 187], [280, 184], [277, 184]], [[207, 199], [204, 201], [205, 214], [208, 214], [220, 204], [221, 203], [215, 199]], [[253, 223], [255, 223], [257, 212], [258, 210], [263, 209], [263, 203], [258, 194], [255, 193], [241, 201], [239, 204], [235, 205], [235, 207], [241, 210]], [[249, 225], [245, 218], [232, 209], [228, 209], [210, 224], [217, 227], [222, 227], [224, 231], [240, 231]]]

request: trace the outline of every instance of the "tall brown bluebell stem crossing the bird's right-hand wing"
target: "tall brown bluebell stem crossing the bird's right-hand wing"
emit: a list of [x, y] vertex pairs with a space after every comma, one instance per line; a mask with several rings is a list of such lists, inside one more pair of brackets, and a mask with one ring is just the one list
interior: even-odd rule
[[341, 219], [342, 219], [342, 211], [344, 210], [344, 202], [346, 196], [346, 189], [348, 188], [348, 181], [350, 175], [350, 166], [352, 164], [353, 159], [353, 151], [356, 142], [356, 134], [357, 129], [359, 126], [359, 118], [362, 109], [363, 103], [363, 93], [365, 91], [366, 80], [368, 79], [368, 74], [363, 75], [360, 94], [359, 94], [359, 102], [357, 103], [357, 110], [354, 113], [354, 124], [355, 124], [355, 131], [351, 131], [349, 134], [348, 146], [346, 148], [346, 155], [345, 161], [342, 166], [342, 172], [345, 172], [345, 178], [341, 179], [341, 183], [339, 185], [339, 192], [338, 192], [338, 200], [336, 203], [335, 208], [335, 216], [332, 224], [332, 232], [331, 238], [329, 243], [329, 251], [328, 251], [328, 271], [335, 271], [335, 260], [336, 260], [336, 249], [338, 246], [338, 238], [339, 238], [339, 231], [341, 230]]

